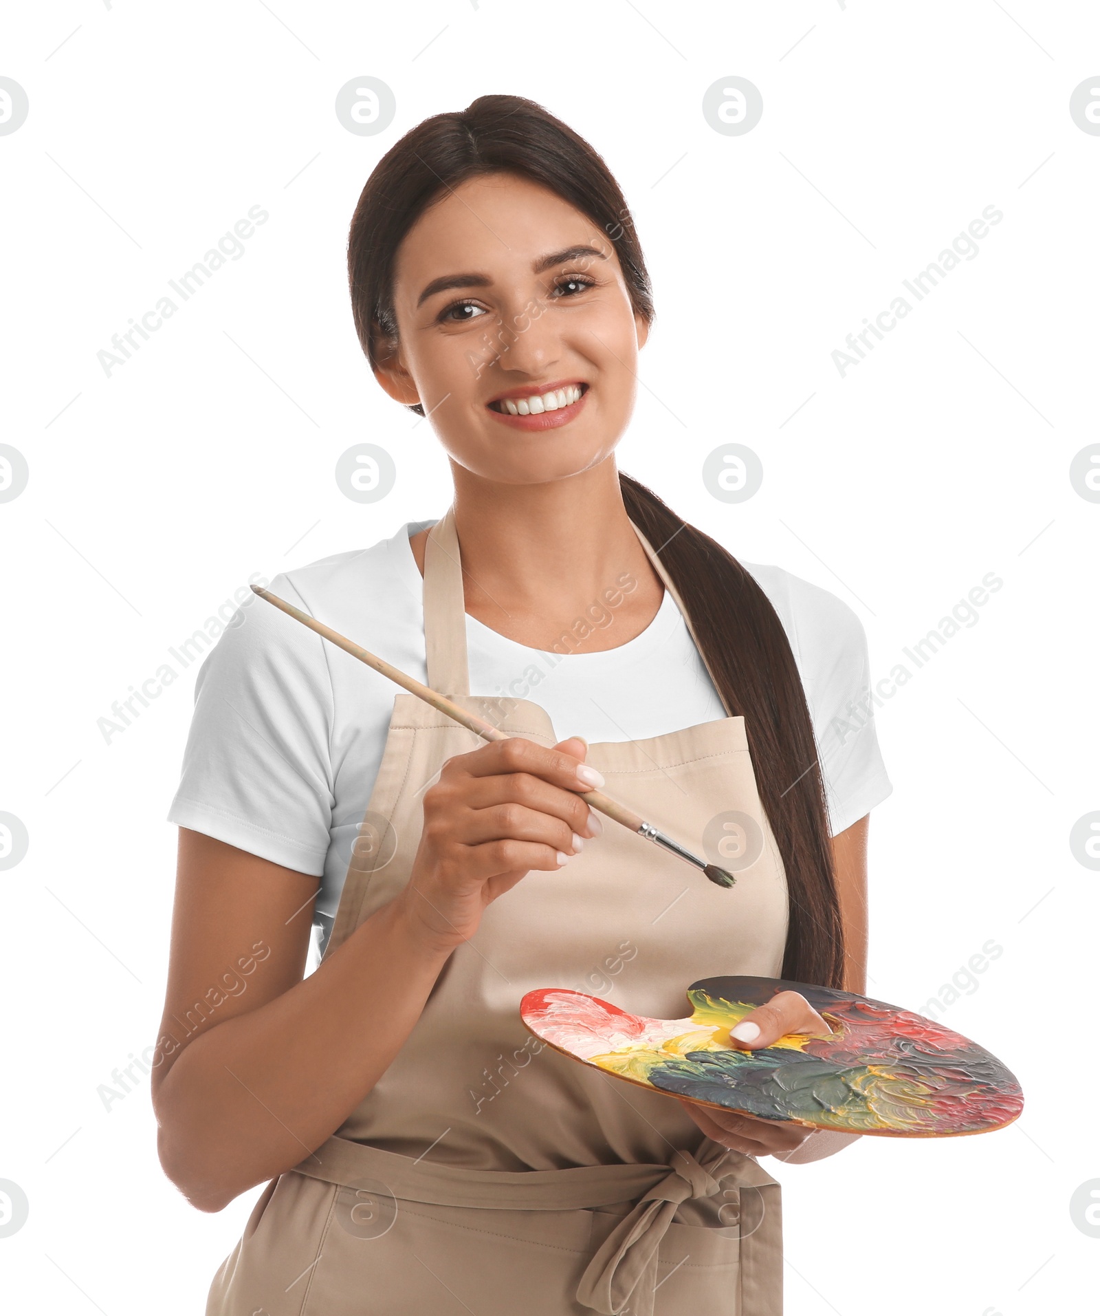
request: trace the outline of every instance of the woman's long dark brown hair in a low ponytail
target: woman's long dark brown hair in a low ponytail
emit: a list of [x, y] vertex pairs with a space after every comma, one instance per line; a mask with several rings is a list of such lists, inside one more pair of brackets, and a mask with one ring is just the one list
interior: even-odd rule
[[[542, 184], [599, 225], [614, 243], [634, 312], [653, 318], [641, 243], [603, 158], [534, 101], [479, 96], [467, 109], [434, 114], [407, 133], [379, 161], [355, 207], [347, 274], [355, 330], [374, 368], [396, 343], [393, 263], [403, 238], [443, 192], [500, 172]], [[682, 521], [638, 480], [618, 479], [628, 516], [659, 551], [684, 601], [726, 711], [745, 719], [761, 803], [787, 873], [782, 976], [842, 987], [843, 925], [825, 788], [783, 624], [763, 590], [716, 540]]]

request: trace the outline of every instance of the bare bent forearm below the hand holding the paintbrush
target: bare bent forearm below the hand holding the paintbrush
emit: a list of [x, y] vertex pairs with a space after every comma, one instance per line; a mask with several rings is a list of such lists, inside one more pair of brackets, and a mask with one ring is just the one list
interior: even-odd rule
[[155, 1096], [166, 1174], [220, 1211], [304, 1159], [392, 1063], [446, 959], [393, 903], [289, 991], [196, 1037]]

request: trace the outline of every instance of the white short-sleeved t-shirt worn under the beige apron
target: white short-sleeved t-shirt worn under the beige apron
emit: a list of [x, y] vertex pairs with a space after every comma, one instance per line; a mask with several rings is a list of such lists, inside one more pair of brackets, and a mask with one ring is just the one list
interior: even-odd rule
[[[428, 679], [422, 579], [409, 522], [370, 549], [271, 582], [271, 591], [418, 680]], [[836, 836], [884, 800], [874, 720], [853, 734], [870, 684], [863, 626], [845, 603], [779, 567], [746, 570], [778, 612], [817, 737]], [[399, 687], [253, 596], [207, 654], [168, 821], [321, 878], [328, 930], [370, 801]], [[725, 717], [699, 650], [666, 591], [650, 625], [617, 649], [528, 649], [466, 616], [470, 692], [541, 704], [559, 740], [646, 740]], [[866, 715], [861, 715], [866, 716]], [[843, 733], [832, 729], [838, 719]]]

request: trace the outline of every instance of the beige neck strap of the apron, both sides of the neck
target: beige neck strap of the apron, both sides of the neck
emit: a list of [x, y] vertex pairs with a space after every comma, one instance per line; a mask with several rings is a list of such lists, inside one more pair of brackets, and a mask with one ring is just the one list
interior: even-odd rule
[[[646, 557], [661, 576], [672, 601], [680, 609], [692, 640], [699, 644], [683, 600], [664, 563], [632, 521]], [[428, 655], [428, 684], [441, 695], [470, 694], [470, 666], [466, 657], [466, 595], [462, 584], [462, 554], [454, 525], [454, 504], [428, 532], [424, 549], [424, 644]], [[711, 674], [713, 679], [713, 672]]]

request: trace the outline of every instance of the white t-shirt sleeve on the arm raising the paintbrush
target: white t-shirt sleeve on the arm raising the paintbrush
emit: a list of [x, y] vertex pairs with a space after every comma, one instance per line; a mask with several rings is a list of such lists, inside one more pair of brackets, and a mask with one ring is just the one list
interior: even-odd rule
[[[286, 575], [271, 591], [309, 611]], [[207, 654], [168, 821], [320, 876], [334, 805], [324, 641], [253, 596]]]

